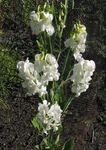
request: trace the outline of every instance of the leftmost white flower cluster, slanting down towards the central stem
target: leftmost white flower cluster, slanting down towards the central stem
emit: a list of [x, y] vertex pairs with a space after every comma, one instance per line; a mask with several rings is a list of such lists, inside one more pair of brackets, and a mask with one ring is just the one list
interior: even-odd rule
[[24, 80], [22, 83], [23, 88], [27, 89], [28, 95], [33, 95], [38, 93], [39, 96], [47, 94], [46, 86], [41, 82], [41, 76], [38, 72], [39, 66], [37, 68], [33, 63], [30, 63], [27, 59], [26, 61], [20, 61], [17, 64], [17, 69], [19, 70], [19, 76]]

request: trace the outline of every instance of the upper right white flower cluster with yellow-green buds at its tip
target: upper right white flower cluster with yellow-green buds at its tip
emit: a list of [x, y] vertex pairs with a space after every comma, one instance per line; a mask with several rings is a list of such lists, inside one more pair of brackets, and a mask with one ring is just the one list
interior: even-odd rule
[[71, 37], [65, 41], [65, 47], [70, 47], [74, 51], [74, 58], [79, 61], [82, 58], [82, 54], [85, 52], [87, 32], [86, 27], [82, 24], [74, 25], [74, 32]]

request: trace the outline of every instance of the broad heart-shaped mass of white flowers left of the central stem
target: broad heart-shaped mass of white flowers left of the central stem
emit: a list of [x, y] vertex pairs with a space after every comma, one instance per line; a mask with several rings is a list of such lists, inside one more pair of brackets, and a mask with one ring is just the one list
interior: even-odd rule
[[22, 86], [28, 90], [28, 95], [38, 93], [40, 96], [47, 93], [49, 81], [59, 79], [58, 63], [52, 54], [37, 54], [35, 62], [19, 61], [17, 64], [19, 76], [24, 80]]

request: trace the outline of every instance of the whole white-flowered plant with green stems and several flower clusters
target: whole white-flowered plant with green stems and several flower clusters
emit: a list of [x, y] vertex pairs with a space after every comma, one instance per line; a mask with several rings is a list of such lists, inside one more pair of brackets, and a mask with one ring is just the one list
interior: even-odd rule
[[[66, 150], [67, 144], [68, 149], [72, 149], [71, 140], [61, 147], [62, 121], [71, 101], [89, 88], [95, 70], [94, 61], [82, 57], [86, 49], [86, 27], [76, 22], [70, 37], [63, 40], [68, 0], [61, 2], [58, 9], [57, 11], [53, 3], [46, 2], [39, 5], [36, 12], [30, 13], [30, 27], [32, 34], [37, 36], [39, 54], [35, 55], [33, 63], [27, 58], [17, 64], [19, 76], [23, 79], [22, 86], [27, 94], [38, 94], [40, 98], [38, 113], [32, 120], [33, 126], [43, 137], [41, 143], [35, 146], [39, 150]], [[62, 59], [61, 68], [60, 58], [64, 52], [66, 57]], [[75, 64], [68, 64], [71, 58]], [[64, 94], [67, 81], [72, 81], [70, 97]]]

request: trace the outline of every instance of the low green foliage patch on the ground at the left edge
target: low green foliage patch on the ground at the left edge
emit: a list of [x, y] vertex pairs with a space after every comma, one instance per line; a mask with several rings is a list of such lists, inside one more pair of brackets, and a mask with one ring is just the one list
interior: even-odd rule
[[9, 88], [20, 81], [16, 71], [18, 58], [15, 51], [0, 47], [0, 97], [8, 96]]

